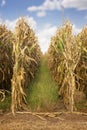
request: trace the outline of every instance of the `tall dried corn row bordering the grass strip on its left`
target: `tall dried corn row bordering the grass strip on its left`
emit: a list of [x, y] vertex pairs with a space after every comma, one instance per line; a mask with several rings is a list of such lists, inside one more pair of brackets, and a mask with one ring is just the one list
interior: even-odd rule
[[[40, 49], [37, 38], [24, 18], [19, 19], [15, 28], [13, 42], [14, 68], [12, 78], [12, 112], [24, 107], [26, 94], [24, 87], [28, 85], [31, 77], [40, 62]], [[39, 56], [39, 57], [38, 57]], [[38, 58], [37, 58], [38, 57]]]

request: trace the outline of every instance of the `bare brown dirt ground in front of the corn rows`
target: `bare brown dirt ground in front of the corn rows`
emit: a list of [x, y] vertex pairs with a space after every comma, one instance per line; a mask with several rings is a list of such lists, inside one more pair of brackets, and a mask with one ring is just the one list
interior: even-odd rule
[[87, 114], [1, 114], [0, 130], [87, 130]]

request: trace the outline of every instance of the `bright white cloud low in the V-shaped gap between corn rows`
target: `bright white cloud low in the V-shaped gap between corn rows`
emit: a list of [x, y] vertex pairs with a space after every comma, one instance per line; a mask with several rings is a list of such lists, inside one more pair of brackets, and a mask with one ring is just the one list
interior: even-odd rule
[[43, 53], [48, 50], [50, 39], [56, 33], [57, 27], [47, 24], [44, 26], [43, 31], [40, 29], [38, 30], [37, 36], [39, 45]]

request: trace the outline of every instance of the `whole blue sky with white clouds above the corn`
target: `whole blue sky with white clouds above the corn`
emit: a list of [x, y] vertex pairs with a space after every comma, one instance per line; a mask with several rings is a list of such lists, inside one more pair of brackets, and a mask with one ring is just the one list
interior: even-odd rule
[[18, 18], [26, 16], [46, 52], [50, 38], [62, 25], [62, 9], [74, 33], [87, 25], [87, 0], [0, 0], [0, 23], [13, 30]]

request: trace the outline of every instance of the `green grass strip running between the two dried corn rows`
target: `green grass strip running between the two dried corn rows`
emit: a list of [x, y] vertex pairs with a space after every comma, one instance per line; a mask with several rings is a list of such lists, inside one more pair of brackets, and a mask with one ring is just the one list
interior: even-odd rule
[[52, 110], [58, 101], [58, 87], [51, 79], [46, 59], [27, 89], [27, 102], [31, 110]]

